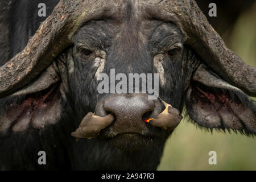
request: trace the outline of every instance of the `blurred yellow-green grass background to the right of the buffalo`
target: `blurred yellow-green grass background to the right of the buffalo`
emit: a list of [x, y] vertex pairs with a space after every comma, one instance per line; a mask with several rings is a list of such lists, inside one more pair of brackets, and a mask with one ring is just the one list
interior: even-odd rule
[[[256, 3], [237, 20], [228, 47], [256, 67]], [[255, 101], [256, 99], [253, 98]], [[217, 152], [217, 165], [208, 163]], [[181, 121], [166, 142], [158, 170], [256, 170], [256, 138], [241, 134], [205, 132]]]

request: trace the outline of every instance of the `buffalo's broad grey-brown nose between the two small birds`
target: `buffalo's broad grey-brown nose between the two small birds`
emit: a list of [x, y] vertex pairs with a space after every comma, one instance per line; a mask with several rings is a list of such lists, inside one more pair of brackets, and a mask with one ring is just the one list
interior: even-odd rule
[[[161, 111], [158, 101], [148, 100], [146, 94], [117, 94], [107, 98], [97, 113], [112, 113], [116, 121], [112, 126], [115, 133], [143, 133], [147, 130], [144, 115], [156, 117]], [[100, 111], [101, 110], [101, 111]]]

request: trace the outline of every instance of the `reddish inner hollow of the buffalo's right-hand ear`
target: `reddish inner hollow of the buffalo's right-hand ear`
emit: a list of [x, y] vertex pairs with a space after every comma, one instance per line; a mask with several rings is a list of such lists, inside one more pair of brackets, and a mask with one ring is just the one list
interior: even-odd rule
[[[195, 118], [201, 125], [208, 127], [225, 127], [243, 129], [240, 113], [246, 108], [239, 101], [233, 101], [228, 94], [203, 90], [193, 87], [191, 100]], [[237, 110], [240, 110], [237, 113]]]

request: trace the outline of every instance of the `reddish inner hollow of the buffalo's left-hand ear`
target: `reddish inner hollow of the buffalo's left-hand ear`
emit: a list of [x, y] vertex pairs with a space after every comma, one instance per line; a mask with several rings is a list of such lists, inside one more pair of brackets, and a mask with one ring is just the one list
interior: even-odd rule
[[[42, 129], [49, 120], [57, 117], [55, 109], [60, 109], [60, 94], [54, 86], [48, 92], [31, 94], [22, 104], [11, 105], [6, 111], [6, 118], [10, 122], [13, 131], [24, 131], [32, 125], [36, 129]], [[58, 110], [56, 110], [58, 112]], [[53, 116], [53, 114], [56, 114]]]

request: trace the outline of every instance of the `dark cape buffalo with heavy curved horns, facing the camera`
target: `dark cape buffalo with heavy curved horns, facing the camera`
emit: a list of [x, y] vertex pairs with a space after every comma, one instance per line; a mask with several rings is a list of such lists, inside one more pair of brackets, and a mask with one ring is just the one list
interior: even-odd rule
[[[201, 127], [256, 134], [256, 69], [195, 1], [51, 1], [44, 21], [30, 3], [0, 3], [0, 169], [155, 170], [184, 106]], [[158, 74], [158, 89], [112, 92], [130, 73]]]

